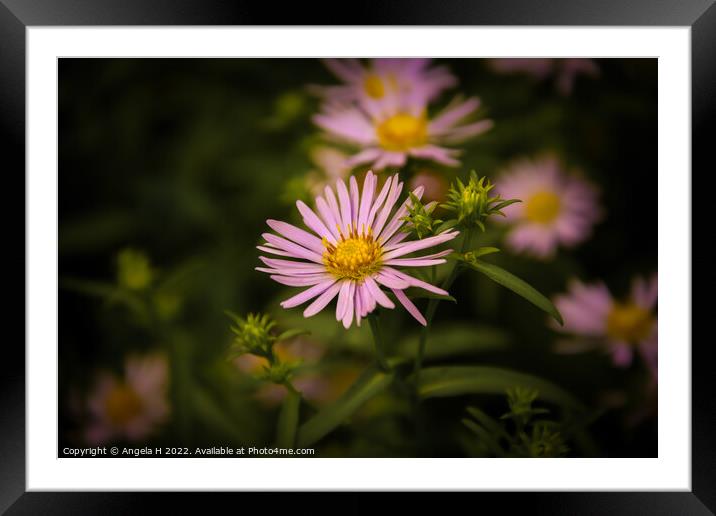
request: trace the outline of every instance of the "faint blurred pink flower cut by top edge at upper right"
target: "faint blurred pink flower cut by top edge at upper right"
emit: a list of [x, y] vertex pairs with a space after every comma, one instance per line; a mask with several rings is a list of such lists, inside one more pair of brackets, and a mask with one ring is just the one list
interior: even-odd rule
[[599, 66], [594, 60], [582, 58], [490, 59], [489, 65], [499, 73], [524, 73], [537, 80], [553, 76], [555, 86], [562, 95], [572, 93], [578, 75], [588, 77], [597, 77], [599, 75]]

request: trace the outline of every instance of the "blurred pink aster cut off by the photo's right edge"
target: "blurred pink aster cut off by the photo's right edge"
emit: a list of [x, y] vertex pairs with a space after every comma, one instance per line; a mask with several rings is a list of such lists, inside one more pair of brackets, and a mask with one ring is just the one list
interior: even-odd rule
[[562, 350], [600, 346], [611, 355], [614, 364], [626, 367], [634, 351], [641, 354], [650, 376], [656, 381], [658, 284], [656, 275], [648, 280], [636, 278], [629, 299], [615, 300], [603, 283], [585, 285], [572, 281], [566, 294], [555, 298], [564, 318], [560, 331], [579, 337], [562, 343]]

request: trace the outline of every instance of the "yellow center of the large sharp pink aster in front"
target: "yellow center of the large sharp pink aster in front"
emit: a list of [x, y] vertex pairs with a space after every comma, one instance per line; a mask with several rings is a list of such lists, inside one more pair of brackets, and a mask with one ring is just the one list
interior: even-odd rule
[[340, 231], [341, 240], [331, 244], [323, 239], [326, 251], [323, 253], [323, 263], [328, 272], [341, 279], [361, 281], [380, 269], [381, 246], [373, 238], [373, 230], [368, 228], [365, 232], [358, 232], [351, 228], [348, 235]]

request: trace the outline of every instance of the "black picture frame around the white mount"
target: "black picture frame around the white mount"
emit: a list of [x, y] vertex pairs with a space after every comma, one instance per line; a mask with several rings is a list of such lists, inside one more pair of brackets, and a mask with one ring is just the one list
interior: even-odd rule
[[[0, 0], [0, 128], [5, 198], [21, 199], [25, 191], [25, 30], [61, 25], [637, 25], [691, 27], [692, 173], [713, 173], [712, 138], [716, 122], [716, 6], [714, 0], [453, 0], [428, 2], [356, 0], [337, 6], [324, 2], [280, 5], [242, 0]], [[379, 8], [378, 8], [379, 7]], [[691, 181], [689, 177], [675, 180]], [[692, 202], [694, 206], [697, 204]], [[5, 254], [11, 266], [26, 263], [25, 227], [15, 207], [7, 210]], [[12, 216], [11, 210], [12, 209]], [[676, 209], [691, 210], [691, 206]], [[23, 205], [24, 212], [24, 205]], [[694, 217], [695, 219], [695, 217]], [[708, 219], [707, 219], [708, 220]], [[9, 245], [12, 242], [13, 245]], [[6, 269], [10, 270], [10, 269]], [[6, 274], [21, 290], [20, 274]], [[15, 285], [17, 283], [17, 285]], [[708, 281], [701, 284], [707, 284]], [[25, 290], [22, 289], [23, 300]], [[19, 326], [25, 304], [6, 296], [7, 321]], [[701, 308], [703, 310], [703, 308]], [[13, 313], [15, 312], [15, 313]], [[693, 320], [693, 318], [692, 318]], [[24, 337], [24, 325], [21, 335]], [[25, 492], [25, 352], [24, 338], [3, 343], [5, 367], [0, 377], [0, 512], [7, 514], [129, 514], [142, 513], [147, 502], [159, 501], [162, 510], [181, 504], [184, 496], [130, 493]], [[688, 343], [683, 343], [688, 345]], [[692, 346], [692, 491], [643, 493], [481, 493], [510, 513], [524, 507], [534, 514], [714, 514], [716, 513], [716, 397], [712, 395], [710, 339]], [[662, 414], [662, 417], [669, 417]], [[206, 495], [205, 495], [206, 496]], [[215, 496], [215, 495], [212, 495]], [[233, 496], [233, 495], [226, 495]], [[246, 495], [242, 494], [242, 499]], [[370, 509], [374, 495], [352, 494], [351, 512]], [[222, 496], [221, 498], [224, 498]], [[315, 499], [315, 495], [311, 498]], [[413, 497], [423, 503], [421, 497]], [[263, 496], [262, 500], [268, 500]], [[205, 500], [206, 502], [206, 500]], [[256, 503], [255, 500], [252, 500]], [[212, 504], [216, 499], [212, 498]], [[246, 502], [242, 502], [246, 503]], [[258, 503], [262, 503], [258, 501]], [[272, 499], [272, 504], [276, 503]], [[316, 502], [307, 502], [316, 507]], [[458, 502], [459, 503], [459, 502]], [[474, 503], [474, 502], [469, 502]], [[362, 509], [361, 509], [362, 507]], [[477, 506], [473, 506], [477, 510]]]

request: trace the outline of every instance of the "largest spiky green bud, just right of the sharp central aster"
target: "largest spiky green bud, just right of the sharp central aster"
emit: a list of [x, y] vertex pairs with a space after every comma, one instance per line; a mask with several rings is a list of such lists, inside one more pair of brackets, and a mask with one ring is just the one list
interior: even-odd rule
[[467, 185], [460, 179], [450, 186], [448, 202], [440, 206], [455, 213], [457, 223], [466, 228], [474, 226], [485, 230], [485, 221], [490, 215], [504, 216], [502, 209], [510, 204], [520, 202], [518, 199], [502, 199], [500, 195], [490, 196], [495, 187], [485, 177], [478, 177], [475, 171], [470, 172]]

